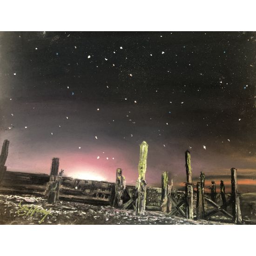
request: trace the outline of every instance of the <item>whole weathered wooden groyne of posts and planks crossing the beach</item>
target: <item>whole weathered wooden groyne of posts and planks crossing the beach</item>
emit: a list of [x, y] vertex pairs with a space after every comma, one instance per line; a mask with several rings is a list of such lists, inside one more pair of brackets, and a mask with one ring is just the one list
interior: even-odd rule
[[240, 198], [237, 189], [237, 170], [231, 168], [231, 194], [225, 193], [224, 182], [220, 181], [220, 192], [211, 181], [211, 192], [205, 193], [207, 176], [201, 172], [199, 181], [192, 182], [192, 165], [189, 150], [185, 152], [187, 180], [184, 191], [173, 191], [173, 179], [168, 171], [160, 177], [162, 187], [149, 187], [146, 182], [148, 144], [140, 145], [138, 164], [139, 177], [135, 186], [126, 185], [121, 168], [115, 171], [116, 182], [100, 182], [65, 177], [59, 172], [60, 159], [54, 157], [51, 171], [46, 174], [30, 174], [7, 171], [5, 162], [9, 141], [4, 141], [0, 155], [0, 193], [44, 196], [49, 204], [58, 200], [78, 201], [94, 204], [108, 204], [119, 209], [133, 209], [137, 214], [145, 210], [158, 210], [168, 216], [182, 216], [187, 219], [205, 219], [243, 222]]

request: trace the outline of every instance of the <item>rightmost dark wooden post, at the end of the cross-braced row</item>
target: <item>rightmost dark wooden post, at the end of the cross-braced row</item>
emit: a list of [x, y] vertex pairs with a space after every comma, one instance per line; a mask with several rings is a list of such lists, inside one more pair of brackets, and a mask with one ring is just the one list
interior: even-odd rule
[[232, 199], [232, 214], [233, 220], [236, 224], [242, 222], [242, 214], [240, 209], [240, 200], [237, 195], [237, 178], [236, 168], [231, 168], [231, 199]]

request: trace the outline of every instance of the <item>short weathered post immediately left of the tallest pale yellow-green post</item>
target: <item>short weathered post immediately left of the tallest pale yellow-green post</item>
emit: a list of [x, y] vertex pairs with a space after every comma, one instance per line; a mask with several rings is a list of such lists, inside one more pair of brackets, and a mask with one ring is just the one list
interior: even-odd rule
[[125, 189], [125, 177], [122, 175], [122, 169], [116, 169], [116, 179], [115, 179], [115, 198], [113, 206], [116, 208], [122, 208], [123, 201], [121, 199], [123, 191]]

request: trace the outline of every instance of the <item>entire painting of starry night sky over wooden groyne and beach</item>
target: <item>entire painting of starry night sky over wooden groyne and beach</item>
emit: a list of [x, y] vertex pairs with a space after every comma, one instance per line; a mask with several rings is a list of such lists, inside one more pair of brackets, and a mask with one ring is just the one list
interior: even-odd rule
[[1, 32], [0, 224], [255, 224], [255, 32]]

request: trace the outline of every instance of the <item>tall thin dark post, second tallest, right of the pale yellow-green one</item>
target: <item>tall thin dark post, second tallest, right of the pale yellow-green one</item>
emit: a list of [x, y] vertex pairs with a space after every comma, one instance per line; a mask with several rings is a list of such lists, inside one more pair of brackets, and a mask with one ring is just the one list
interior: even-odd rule
[[186, 173], [187, 173], [187, 182], [185, 187], [185, 196], [186, 196], [186, 216], [188, 219], [193, 219], [193, 186], [192, 186], [192, 168], [191, 168], [191, 157], [189, 150], [185, 152], [186, 160]]

